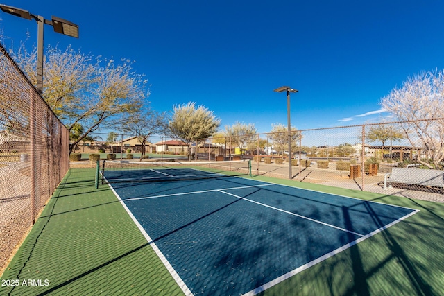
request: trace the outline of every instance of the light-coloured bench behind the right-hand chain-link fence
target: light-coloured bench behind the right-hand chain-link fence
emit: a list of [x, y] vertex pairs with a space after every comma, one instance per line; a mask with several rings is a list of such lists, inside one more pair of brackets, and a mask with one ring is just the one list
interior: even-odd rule
[[392, 168], [391, 173], [384, 175], [384, 189], [387, 189], [388, 182], [444, 188], [444, 171], [421, 168]]

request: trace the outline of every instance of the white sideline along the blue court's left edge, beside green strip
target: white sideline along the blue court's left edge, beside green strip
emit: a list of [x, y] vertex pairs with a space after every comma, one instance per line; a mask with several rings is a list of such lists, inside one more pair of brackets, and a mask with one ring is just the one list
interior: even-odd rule
[[173, 277], [173, 279], [176, 281], [176, 283], [182, 289], [182, 292], [185, 293], [185, 295], [187, 295], [187, 296], [193, 296], [194, 294], [191, 293], [191, 290], [189, 290], [187, 284], [185, 284], [185, 282], [178, 275], [176, 270], [174, 270], [173, 266], [169, 263], [169, 261], [164, 256], [164, 254], [162, 254], [162, 252], [160, 252], [157, 245], [155, 245], [153, 239], [151, 239], [151, 237], [146, 233], [144, 227], [142, 227], [142, 225], [140, 225], [139, 221], [137, 221], [137, 219], [135, 218], [133, 213], [131, 213], [130, 209], [128, 209], [128, 207], [126, 207], [125, 202], [123, 202], [123, 200], [120, 198], [119, 194], [117, 194], [117, 192], [114, 190], [114, 188], [112, 188], [111, 184], [108, 184], [108, 186], [110, 186], [112, 192], [116, 195], [117, 199], [119, 200], [119, 202], [123, 206], [123, 209], [125, 209], [126, 212], [128, 213], [128, 215], [131, 217], [131, 219], [133, 219], [135, 225], [137, 225], [137, 228], [139, 228], [140, 232], [142, 232], [142, 235], [146, 238], [146, 241], [148, 241], [148, 243], [151, 245], [151, 247], [153, 247], [154, 252], [157, 254], [157, 256], [159, 256], [160, 261], [162, 261], [162, 263], [164, 263], [164, 265], [167, 268], [167, 270], [169, 271], [171, 277]]

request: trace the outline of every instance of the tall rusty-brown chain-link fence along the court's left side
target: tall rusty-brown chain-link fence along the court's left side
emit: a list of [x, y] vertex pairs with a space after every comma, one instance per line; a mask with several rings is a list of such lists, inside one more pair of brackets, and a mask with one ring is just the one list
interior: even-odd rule
[[69, 132], [0, 44], [0, 270], [69, 168]]

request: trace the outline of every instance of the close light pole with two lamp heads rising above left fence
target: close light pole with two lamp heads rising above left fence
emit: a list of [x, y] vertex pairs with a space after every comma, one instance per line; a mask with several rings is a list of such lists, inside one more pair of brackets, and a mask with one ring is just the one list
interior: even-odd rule
[[68, 35], [71, 37], [78, 38], [78, 26], [71, 21], [65, 19], [60, 19], [60, 17], [51, 17], [51, 21], [44, 19], [40, 15], [33, 15], [21, 8], [15, 8], [12, 6], [7, 6], [0, 4], [0, 9], [3, 12], [9, 13], [10, 15], [15, 15], [16, 17], [22, 17], [24, 19], [35, 19], [38, 24], [37, 31], [37, 92], [40, 96], [43, 95], [43, 33], [44, 24], [53, 26], [54, 31], [63, 35]]

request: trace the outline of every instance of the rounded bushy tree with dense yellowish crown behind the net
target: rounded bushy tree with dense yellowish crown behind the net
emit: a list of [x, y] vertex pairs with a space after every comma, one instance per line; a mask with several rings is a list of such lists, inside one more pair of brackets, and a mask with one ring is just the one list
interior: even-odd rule
[[[196, 108], [196, 103], [174, 105], [173, 116], [169, 121], [169, 131], [173, 137], [184, 141], [191, 157], [191, 145], [200, 139], [206, 139], [216, 133], [221, 120], [204, 106]], [[196, 147], [197, 153], [197, 147]]]

